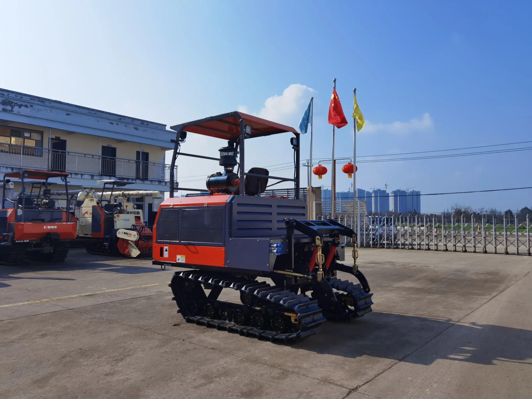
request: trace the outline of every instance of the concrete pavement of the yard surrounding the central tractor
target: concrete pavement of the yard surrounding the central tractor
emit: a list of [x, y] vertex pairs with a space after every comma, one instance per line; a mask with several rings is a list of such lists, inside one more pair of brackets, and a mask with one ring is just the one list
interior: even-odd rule
[[2, 266], [0, 397], [532, 396], [530, 257], [361, 249], [360, 268], [373, 312], [283, 345], [184, 322], [148, 260]]

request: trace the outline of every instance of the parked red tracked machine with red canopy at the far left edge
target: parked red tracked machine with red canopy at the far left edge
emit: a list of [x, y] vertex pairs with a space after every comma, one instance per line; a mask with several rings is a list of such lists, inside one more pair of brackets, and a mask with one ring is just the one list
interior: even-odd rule
[[[63, 262], [69, 240], [76, 238], [76, 221], [70, 212], [56, 208], [48, 188], [49, 178], [61, 178], [68, 198], [68, 173], [21, 169], [6, 173], [2, 182], [0, 210], [0, 262], [22, 263], [24, 256], [49, 262]], [[16, 194], [9, 178], [20, 178]], [[31, 184], [28, 194], [26, 185]], [[68, 210], [68, 204], [66, 206]]]

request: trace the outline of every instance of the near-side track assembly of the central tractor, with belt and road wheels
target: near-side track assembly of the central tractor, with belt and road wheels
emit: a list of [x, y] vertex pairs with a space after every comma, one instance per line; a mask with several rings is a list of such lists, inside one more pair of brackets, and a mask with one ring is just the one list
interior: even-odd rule
[[[202, 284], [211, 289], [208, 296]], [[174, 273], [169, 286], [172, 300], [187, 322], [243, 336], [295, 342], [318, 332], [326, 320], [318, 301], [265, 281], [227, 273], [182, 271]], [[222, 288], [238, 290], [242, 302], [248, 304], [218, 301]], [[265, 326], [271, 329], [263, 329]]]

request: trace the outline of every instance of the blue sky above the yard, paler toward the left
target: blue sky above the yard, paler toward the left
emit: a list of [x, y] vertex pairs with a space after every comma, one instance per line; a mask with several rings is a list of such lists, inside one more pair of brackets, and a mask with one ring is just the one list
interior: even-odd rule
[[[336, 78], [346, 115], [356, 87], [368, 121], [358, 155], [532, 140], [530, 2], [1, 1], [0, 8], [6, 89], [168, 126], [238, 107], [297, 126], [314, 96], [320, 158], [331, 153], [327, 110]], [[352, 131], [352, 121], [337, 130], [337, 156], [351, 156]], [[248, 145], [250, 166], [289, 162], [288, 139]], [[220, 144], [191, 137], [183, 151], [216, 155]], [[531, 155], [365, 163], [357, 187], [532, 186]], [[190, 187], [218, 170], [215, 162], [179, 161], [182, 181], [199, 179]], [[320, 182], [330, 185], [328, 176]], [[339, 189], [351, 181], [338, 171]], [[531, 194], [423, 197], [422, 211], [454, 202], [516, 209], [532, 206]]]

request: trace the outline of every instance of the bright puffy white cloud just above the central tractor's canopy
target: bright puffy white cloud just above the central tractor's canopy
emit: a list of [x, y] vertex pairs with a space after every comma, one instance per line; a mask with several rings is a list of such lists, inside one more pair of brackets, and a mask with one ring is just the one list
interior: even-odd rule
[[[292, 84], [280, 96], [276, 94], [266, 99], [261, 110], [253, 115], [273, 122], [297, 124], [313, 93], [314, 89], [310, 87]], [[244, 105], [239, 105], [237, 110], [250, 113]]]

